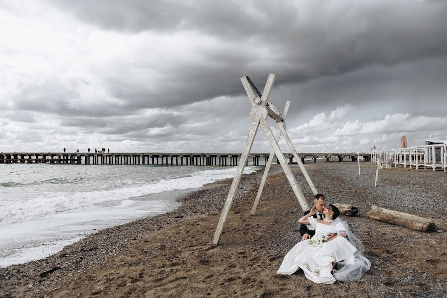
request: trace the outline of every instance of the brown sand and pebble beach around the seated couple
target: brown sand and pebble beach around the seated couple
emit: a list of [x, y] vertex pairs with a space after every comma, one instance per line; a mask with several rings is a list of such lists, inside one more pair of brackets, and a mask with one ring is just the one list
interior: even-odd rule
[[[274, 165], [257, 214], [250, 216], [263, 169], [242, 177], [219, 246], [211, 245], [231, 179], [188, 193], [174, 212], [101, 230], [46, 259], [0, 268], [0, 297], [442, 297], [447, 295], [444, 172], [381, 170], [375, 164], [309, 163], [328, 203], [359, 207], [343, 217], [363, 241], [372, 268], [360, 280], [316, 285], [302, 271], [276, 274], [299, 240], [302, 215]], [[297, 165], [298, 183], [312, 194]], [[433, 218], [423, 233], [369, 219], [372, 205]]]

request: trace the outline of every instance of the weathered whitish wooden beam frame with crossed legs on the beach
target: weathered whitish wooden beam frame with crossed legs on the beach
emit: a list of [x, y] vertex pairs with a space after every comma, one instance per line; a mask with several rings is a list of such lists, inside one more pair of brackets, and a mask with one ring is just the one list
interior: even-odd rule
[[[292, 189], [295, 193], [295, 196], [298, 199], [299, 205], [301, 206], [303, 211], [309, 210], [309, 205], [307, 204], [306, 199], [304, 198], [304, 195], [301, 191], [301, 189], [298, 186], [297, 180], [295, 179], [294, 174], [292, 173], [292, 170], [289, 167], [289, 164], [287, 163], [286, 159], [284, 158], [283, 153], [281, 152], [281, 149], [278, 146], [278, 141], [281, 135], [284, 136], [286, 139], [287, 144], [289, 145], [289, 148], [292, 150], [293, 155], [295, 159], [298, 162], [298, 166], [301, 169], [304, 177], [306, 178], [307, 183], [310, 186], [310, 189], [312, 190], [312, 193], [315, 195], [318, 193], [315, 185], [313, 184], [312, 180], [310, 179], [309, 175], [307, 174], [307, 171], [305, 170], [301, 158], [298, 157], [297, 151], [295, 150], [292, 141], [290, 140], [289, 136], [287, 135], [286, 129], [286, 116], [289, 111], [290, 101], [286, 102], [286, 106], [284, 108], [283, 114], [280, 114], [278, 110], [276, 109], [275, 105], [271, 102], [269, 102], [269, 96], [273, 88], [273, 84], [275, 83], [276, 75], [275, 74], [269, 74], [269, 77], [267, 78], [267, 82], [264, 86], [264, 91], [262, 94], [258, 91], [256, 86], [253, 84], [253, 82], [250, 80], [248, 76], [243, 76], [240, 78], [242, 81], [242, 84], [244, 85], [245, 91], [248, 95], [248, 100], [250, 101], [252, 108], [250, 111], [250, 117], [252, 120], [250, 132], [248, 133], [247, 141], [245, 143], [244, 149], [242, 151], [242, 155], [239, 160], [239, 164], [236, 169], [236, 174], [233, 178], [233, 181], [231, 183], [228, 196], [226, 197], [224, 209], [222, 210], [221, 218], [219, 220], [219, 224], [217, 225], [216, 232], [214, 233], [214, 245], [217, 245], [219, 243], [219, 238], [221, 237], [222, 230], [224, 228], [224, 223], [226, 220], [226, 217], [228, 216], [228, 212], [231, 208], [231, 204], [233, 203], [234, 194], [236, 192], [237, 187], [240, 183], [240, 178], [242, 177], [245, 163], [248, 159], [248, 155], [250, 154], [251, 147], [253, 146], [254, 138], [256, 136], [256, 133], [258, 131], [259, 125], [262, 126], [264, 129], [264, 132], [267, 136], [267, 139], [269, 140], [270, 146], [272, 147], [272, 150], [270, 152], [270, 156], [268, 159], [268, 162], [266, 164], [264, 175], [262, 176], [261, 184], [259, 186], [258, 193], [256, 195], [256, 199], [253, 205], [253, 208], [251, 210], [251, 214], [254, 215], [256, 212], [256, 207], [259, 203], [262, 189], [264, 188], [265, 181], [267, 179], [267, 175], [270, 169], [270, 165], [272, 164], [273, 157], [276, 155], [279, 163], [281, 164], [284, 172], [286, 173], [286, 177], [289, 180], [290, 185], [292, 186]], [[270, 126], [267, 124], [266, 118], [267, 116], [270, 116], [271, 118], [276, 120], [276, 136], [273, 136], [273, 133], [270, 129]]]

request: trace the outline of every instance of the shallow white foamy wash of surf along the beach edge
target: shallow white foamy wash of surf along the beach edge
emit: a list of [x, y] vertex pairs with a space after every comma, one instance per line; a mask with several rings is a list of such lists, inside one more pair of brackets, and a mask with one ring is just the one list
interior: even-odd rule
[[[255, 171], [258, 169], [258, 167], [254, 167]], [[223, 180], [226, 181], [227, 178], [224, 178]], [[63, 227], [58, 229], [56, 229], [56, 227], [49, 226], [46, 223], [45, 219], [32, 220], [30, 223], [19, 223], [19, 226], [15, 227], [15, 229], [17, 229], [17, 232], [19, 232], [16, 237], [14, 236], [13, 232], [14, 228], [12, 229], [12, 231], [5, 231], [5, 234], [3, 235], [6, 236], [6, 238], [4, 238], [4, 240], [6, 241], [6, 246], [4, 246], [4, 248], [1, 250], [2, 254], [0, 259], [0, 268], [6, 268], [10, 265], [20, 265], [30, 261], [44, 259], [60, 252], [65, 246], [80, 241], [81, 239], [103, 229], [132, 223], [136, 220], [157, 216], [159, 214], [172, 212], [181, 205], [181, 203], [178, 201], [178, 198], [202, 188], [209, 188], [215, 185], [221, 185], [220, 183], [220, 180], [217, 180], [211, 183], [207, 183], [201, 187], [174, 189], [125, 199], [116, 205], [120, 205], [125, 202], [132, 202], [126, 203], [128, 207], [131, 206], [132, 208], [131, 212], [127, 213], [128, 216], [126, 216], [126, 213], [120, 213], [119, 209], [116, 209], [114, 205], [100, 204], [100, 210], [93, 211], [92, 206], [88, 206], [81, 208], [81, 211], [76, 212], [76, 210], [68, 210], [64, 213], [52, 215], [53, 217], [58, 217], [58, 222], [65, 223], [68, 221], [71, 223], [63, 224]], [[153, 203], [150, 202], [154, 202], [155, 204], [153, 206], [153, 211], [150, 209], [152, 208]], [[162, 204], [161, 202], [165, 203]], [[150, 206], [146, 206], [148, 204]], [[86, 211], [83, 209], [85, 209]], [[132, 211], [136, 213], [133, 213]], [[94, 215], [88, 215], [92, 212], [96, 214], [99, 212], [99, 215], [97, 217], [95, 217]], [[84, 216], [84, 213], [86, 213], [87, 216]], [[107, 214], [110, 214], [110, 216]], [[118, 216], [118, 218], [114, 219], [114, 215]], [[44, 229], [39, 230], [31, 228], [31, 226], [38, 225], [43, 225]], [[30, 238], [33, 237], [33, 234], [26, 231], [23, 232], [23, 235], [20, 234], [20, 231], [23, 231], [26, 228], [31, 228], [31, 230], [39, 233], [39, 237], [36, 239]], [[47, 229], [51, 232], [47, 232]], [[60, 234], [55, 234], [55, 232], [59, 232]], [[8, 235], [11, 238], [8, 238]], [[32, 240], [26, 240], [27, 238], [30, 238]]]

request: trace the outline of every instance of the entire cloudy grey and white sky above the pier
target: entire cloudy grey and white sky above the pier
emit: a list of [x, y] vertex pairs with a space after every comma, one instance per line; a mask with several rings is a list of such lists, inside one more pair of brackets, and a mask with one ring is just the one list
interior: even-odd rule
[[[262, 92], [269, 73], [298, 152], [446, 140], [446, 15], [442, 0], [0, 0], [0, 151], [241, 152], [240, 77]], [[270, 151], [262, 129], [252, 151]]]

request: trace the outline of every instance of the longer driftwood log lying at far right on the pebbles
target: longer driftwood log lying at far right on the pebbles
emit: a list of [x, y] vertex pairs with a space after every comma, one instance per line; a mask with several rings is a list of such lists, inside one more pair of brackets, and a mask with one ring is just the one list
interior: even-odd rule
[[373, 220], [388, 224], [397, 224], [421, 232], [436, 230], [436, 225], [432, 220], [422, 218], [416, 215], [384, 209], [377, 206], [371, 206], [367, 216]]

